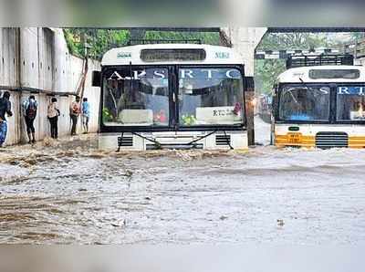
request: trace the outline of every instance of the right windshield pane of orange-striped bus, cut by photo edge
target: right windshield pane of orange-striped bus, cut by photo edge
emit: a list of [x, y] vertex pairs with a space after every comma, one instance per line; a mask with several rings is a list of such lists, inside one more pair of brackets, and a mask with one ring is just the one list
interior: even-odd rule
[[337, 89], [337, 120], [365, 120], [365, 87], [341, 86]]

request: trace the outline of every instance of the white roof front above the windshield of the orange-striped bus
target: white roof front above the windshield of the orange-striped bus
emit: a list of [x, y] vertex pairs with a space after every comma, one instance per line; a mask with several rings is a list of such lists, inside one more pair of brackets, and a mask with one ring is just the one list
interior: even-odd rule
[[[347, 73], [348, 77], [338, 77], [339, 73], [341, 73], [340, 70], [343, 70], [343, 73]], [[329, 71], [333, 71], [334, 73], [336, 73], [337, 71], [338, 74], [333, 78], [328, 78]], [[327, 76], [321, 77], [321, 73], [322, 75]], [[287, 71], [285, 71], [284, 73], [280, 74], [277, 78], [279, 83], [301, 83], [302, 81], [300, 79], [302, 79], [306, 83], [365, 82], [365, 67], [338, 65], [290, 68], [287, 69]]]

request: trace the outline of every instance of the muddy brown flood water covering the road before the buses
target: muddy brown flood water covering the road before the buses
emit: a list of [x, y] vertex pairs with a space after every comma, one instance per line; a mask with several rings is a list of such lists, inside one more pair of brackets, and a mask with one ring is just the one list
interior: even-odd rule
[[116, 153], [90, 135], [3, 149], [0, 173], [0, 243], [365, 241], [365, 151]]

